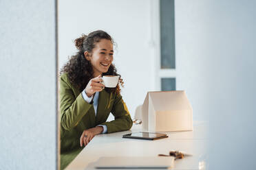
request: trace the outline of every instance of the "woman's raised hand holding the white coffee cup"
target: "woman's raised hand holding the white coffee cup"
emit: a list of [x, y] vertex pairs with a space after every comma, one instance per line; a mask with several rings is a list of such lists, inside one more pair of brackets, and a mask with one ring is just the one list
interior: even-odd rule
[[89, 83], [85, 87], [86, 95], [88, 97], [91, 97], [92, 95], [94, 95], [94, 93], [103, 90], [105, 86], [101, 82], [103, 82], [101, 75], [98, 75], [98, 77], [89, 80]]

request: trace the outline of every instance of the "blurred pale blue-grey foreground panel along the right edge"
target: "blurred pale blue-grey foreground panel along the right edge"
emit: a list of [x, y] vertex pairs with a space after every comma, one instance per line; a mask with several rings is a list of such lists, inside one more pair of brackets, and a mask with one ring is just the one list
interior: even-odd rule
[[211, 169], [255, 169], [256, 1], [209, 1]]

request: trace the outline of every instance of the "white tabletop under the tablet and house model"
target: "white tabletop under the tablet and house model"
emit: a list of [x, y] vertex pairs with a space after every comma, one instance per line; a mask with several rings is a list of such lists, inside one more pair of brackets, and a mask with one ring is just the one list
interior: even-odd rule
[[194, 122], [191, 132], [168, 132], [168, 138], [156, 141], [122, 138], [123, 134], [140, 132], [141, 126], [112, 134], [100, 134], [81, 151], [66, 169], [94, 169], [101, 156], [158, 156], [171, 150], [185, 151], [193, 156], [175, 160], [173, 169], [208, 169], [209, 123]]

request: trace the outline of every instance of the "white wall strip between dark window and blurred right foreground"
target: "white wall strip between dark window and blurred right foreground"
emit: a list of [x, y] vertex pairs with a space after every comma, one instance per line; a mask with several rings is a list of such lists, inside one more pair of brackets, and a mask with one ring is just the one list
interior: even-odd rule
[[186, 90], [194, 120], [209, 120], [207, 1], [175, 1], [177, 90]]

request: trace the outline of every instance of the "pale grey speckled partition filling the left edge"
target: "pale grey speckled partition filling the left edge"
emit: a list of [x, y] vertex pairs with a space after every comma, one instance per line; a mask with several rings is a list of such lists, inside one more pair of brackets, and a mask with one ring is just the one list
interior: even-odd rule
[[54, 1], [0, 8], [0, 169], [56, 169]]

